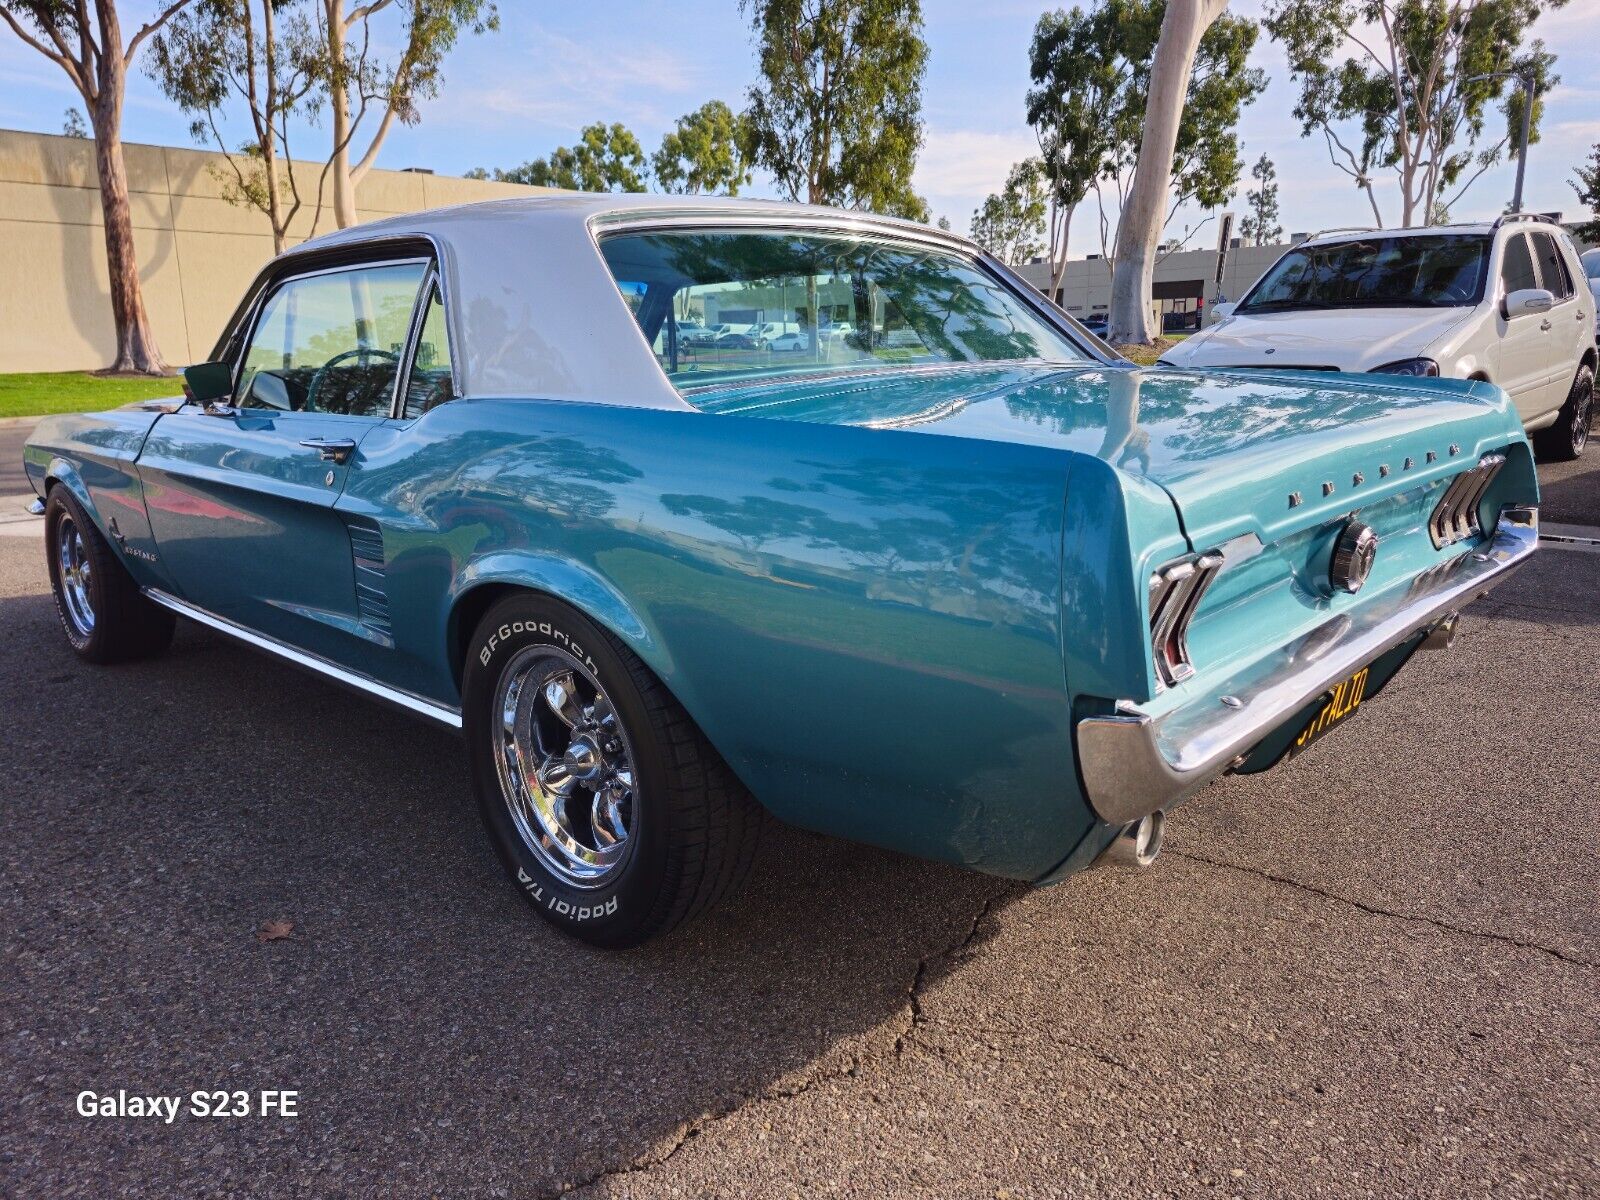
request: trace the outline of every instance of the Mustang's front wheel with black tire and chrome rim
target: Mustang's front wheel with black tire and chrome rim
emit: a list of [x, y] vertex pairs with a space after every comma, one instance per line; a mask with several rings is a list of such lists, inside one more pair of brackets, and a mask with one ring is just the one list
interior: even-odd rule
[[64, 486], [45, 504], [45, 555], [67, 642], [88, 662], [160, 654], [178, 618], [144, 598], [99, 530]]

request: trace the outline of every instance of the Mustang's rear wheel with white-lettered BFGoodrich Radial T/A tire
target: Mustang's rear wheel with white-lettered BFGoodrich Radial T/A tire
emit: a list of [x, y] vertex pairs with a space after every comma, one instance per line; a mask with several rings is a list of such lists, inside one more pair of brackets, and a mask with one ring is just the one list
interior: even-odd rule
[[566, 605], [520, 594], [490, 610], [462, 718], [494, 850], [563, 933], [635, 946], [749, 872], [758, 805], [661, 680]]

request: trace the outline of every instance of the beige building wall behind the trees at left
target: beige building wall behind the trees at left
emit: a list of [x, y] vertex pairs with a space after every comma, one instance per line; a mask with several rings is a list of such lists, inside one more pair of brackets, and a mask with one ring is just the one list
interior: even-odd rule
[[[222, 198], [219, 154], [125, 146], [139, 280], [157, 346], [174, 368], [202, 362], [250, 280], [272, 258], [272, 229]], [[322, 163], [296, 176], [306, 206], [291, 243], [334, 229], [331, 189], [315, 221]], [[362, 221], [549, 189], [370, 171], [355, 192]], [[80, 371], [115, 355], [106, 288], [94, 142], [0, 130], [0, 373]]]

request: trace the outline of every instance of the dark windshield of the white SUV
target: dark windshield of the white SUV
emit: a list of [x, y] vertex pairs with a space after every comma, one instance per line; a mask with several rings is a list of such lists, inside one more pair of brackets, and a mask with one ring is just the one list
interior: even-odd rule
[[1443, 309], [1483, 299], [1485, 234], [1386, 237], [1301, 246], [1280, 258], [1238, 312]]

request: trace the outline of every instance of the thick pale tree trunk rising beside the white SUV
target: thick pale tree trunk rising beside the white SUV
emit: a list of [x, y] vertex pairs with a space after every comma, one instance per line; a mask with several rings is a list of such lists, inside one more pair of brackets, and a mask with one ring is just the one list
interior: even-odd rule
[[1157, 330], [1150, 328], [1150, 291], [1155, 246], [1162, 237], [1166, 194], [1173, 182], [1178, 122], [1189, 93], [1200, 35], [1226, 8], [1227, 0], [1181, 0], [1168, 3], [1162, 18], [1162, 37], [1150, 64], [1150, 96], [1144, 107], [1139, 162], [1117, 222], [1107, 330], [1112, 342], [1147, 346], [1155, 341]]

